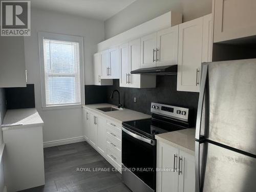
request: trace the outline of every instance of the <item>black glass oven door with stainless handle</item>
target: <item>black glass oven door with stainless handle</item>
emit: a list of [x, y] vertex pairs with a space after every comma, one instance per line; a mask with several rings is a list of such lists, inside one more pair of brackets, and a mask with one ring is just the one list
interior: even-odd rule
[[122, 127], [122, 164], [151, 189], [156, 189], [156, 140]]

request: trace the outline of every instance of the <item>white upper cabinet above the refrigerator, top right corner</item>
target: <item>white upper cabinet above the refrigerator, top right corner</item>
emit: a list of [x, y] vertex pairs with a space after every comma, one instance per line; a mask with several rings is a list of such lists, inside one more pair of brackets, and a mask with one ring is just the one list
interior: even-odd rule
[[214, 42], [256, 35], [255, 0], [214, 0]]

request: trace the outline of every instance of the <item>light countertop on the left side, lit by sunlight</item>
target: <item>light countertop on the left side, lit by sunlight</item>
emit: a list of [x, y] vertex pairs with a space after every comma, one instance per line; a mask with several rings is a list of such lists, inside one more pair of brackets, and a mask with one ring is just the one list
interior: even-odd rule
[[42, 121], [35, 108], [7, 110], [2, 124], [2, 130], [42, 126], [43, 124], [44, 121]]

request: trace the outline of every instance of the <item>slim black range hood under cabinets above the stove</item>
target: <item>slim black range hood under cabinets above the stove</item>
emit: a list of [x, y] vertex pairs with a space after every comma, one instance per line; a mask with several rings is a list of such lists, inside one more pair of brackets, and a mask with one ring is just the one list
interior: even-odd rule
[[131, 71], [131, 74], [145, 74], [145, 75], [176, 75], [178, 65], [160, 66], [153, 68], [142, 68]]

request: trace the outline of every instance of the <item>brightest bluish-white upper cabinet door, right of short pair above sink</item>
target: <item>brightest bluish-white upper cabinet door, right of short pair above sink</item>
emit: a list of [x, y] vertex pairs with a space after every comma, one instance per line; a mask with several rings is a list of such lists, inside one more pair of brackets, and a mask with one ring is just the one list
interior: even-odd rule
[[110, 79], [119, 79], [119, 47], [110, 49]]

